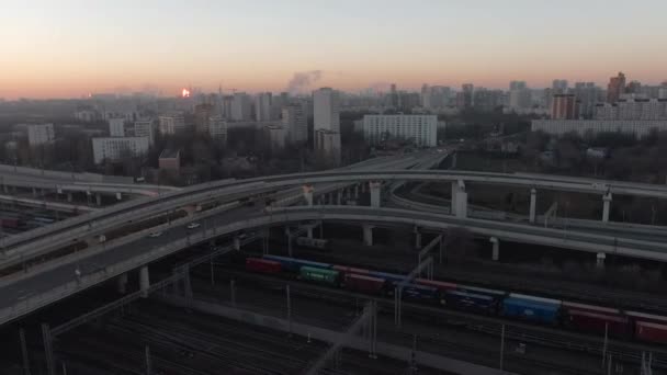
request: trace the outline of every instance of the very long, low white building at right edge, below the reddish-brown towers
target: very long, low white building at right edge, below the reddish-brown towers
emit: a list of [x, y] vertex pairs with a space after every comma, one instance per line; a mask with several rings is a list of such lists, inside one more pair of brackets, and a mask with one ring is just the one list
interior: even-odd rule
[[532, 132], [541, 130], [555, 136], [570, 132], [575, 132], [579, 136], [618, 132], [641, 138], [651, 134], [653, 129], [667, 130], [667, 120], [533, 120], [531, 123]]

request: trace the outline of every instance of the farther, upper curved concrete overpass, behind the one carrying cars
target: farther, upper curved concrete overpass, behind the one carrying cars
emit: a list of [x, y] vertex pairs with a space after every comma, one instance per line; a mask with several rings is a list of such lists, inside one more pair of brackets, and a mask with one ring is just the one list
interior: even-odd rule
[[159, 197], [127, 202], [89, 215], [60, 221], [54, 226], [44, 227], [38, 232], [29, 231], [23, 236], [16, 236], [16, 239], [10, 237], [3, 246], [4, 260], [2, 262], [3, 264], [12, 261], [16, 262], [21, 259], [22, 254], [27, 251], [48, 251], [48, 249], [55, 249], [71, 243], [70, 241], [72, 239], [81, 236], [101, 234], [117, 226], [125, 225], [131, 220], [140, 220], [157, 216], [188, 205], [196, 205], [211, 201], [228, 203], [295, 185], [361, 183], [370, 181], [465, 181], [525, 186], [527, 189], [535, 188], [574, 191], [599, 195], [612, 193], [667, 198], [667, 186], [662, 185], [542, 174], [504, 174], [433, 170], [337, 170], [315, 173], [295, 173], [196, 185]]

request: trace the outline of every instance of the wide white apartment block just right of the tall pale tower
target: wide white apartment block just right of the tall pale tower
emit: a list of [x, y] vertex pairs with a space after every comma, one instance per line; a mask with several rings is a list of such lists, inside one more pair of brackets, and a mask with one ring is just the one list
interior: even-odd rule
[[365, 115], [363, 136], [366, 143], [376, 145], [386, 136], [411, 139], [420, 147], [438, 145], [438, 116], [436, 115]]

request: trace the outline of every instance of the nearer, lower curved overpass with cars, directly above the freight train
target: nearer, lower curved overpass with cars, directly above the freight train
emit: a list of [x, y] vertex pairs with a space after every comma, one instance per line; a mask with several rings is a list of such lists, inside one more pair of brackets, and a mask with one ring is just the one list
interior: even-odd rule
[[[133, 234], [126, 238], [95, 246], [89, 251], [68, 255], [57, 264], [47, 264], [41, 270], [0, 282], [0, 295], [3, 296], [0, 300], [0, 325], [193, 245], [242, 229], [308, 220], [410, 225], [436, 230], [465, 226], [475, 234], [493, 236], [501, 240], [667, 261], [667, 245], [663, 242], [564, 232], [557, 229], [462, 219], [406, 209], [299, 206], [271, 209], [267, 213], [246, 211], [236, 217], [221, 213], [200, 220], [202, 226], [195, 231], [188, 231], [183, 225], [178, 225], [171, 226], [162, 237], [158, 238], [148, 238], [146, 232]], [[83, 274], [80, 281], [77, 281], [75, 275], [77, 266], [81, 268]]]

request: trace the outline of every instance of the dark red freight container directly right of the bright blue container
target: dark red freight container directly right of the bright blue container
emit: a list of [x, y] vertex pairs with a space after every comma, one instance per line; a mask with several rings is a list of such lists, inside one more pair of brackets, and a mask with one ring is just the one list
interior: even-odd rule
[[631, 331], [630, 319], [617, 308], [563, 302], [563, 322], [580, 331], [626, 337]]

